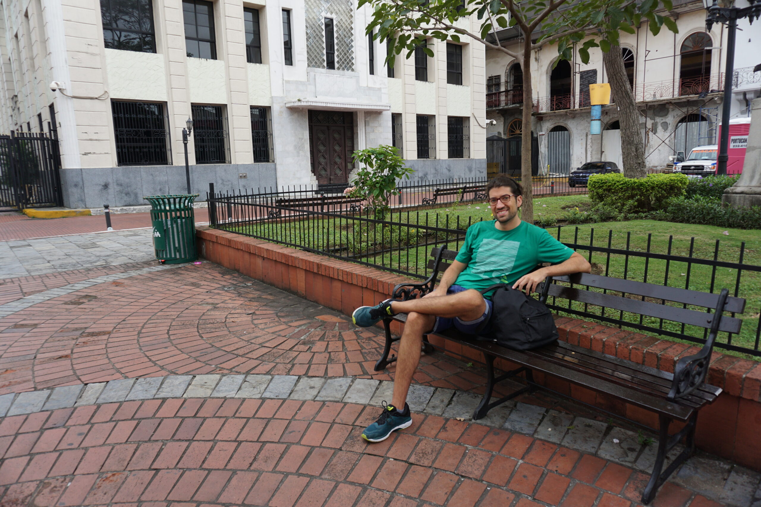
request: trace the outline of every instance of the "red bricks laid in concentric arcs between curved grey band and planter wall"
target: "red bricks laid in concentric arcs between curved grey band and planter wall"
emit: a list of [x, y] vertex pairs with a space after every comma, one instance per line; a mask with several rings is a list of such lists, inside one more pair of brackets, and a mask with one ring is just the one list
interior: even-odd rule
[[[211, 263], [65, 293], [0, 319], [0, 333], [0, 394], [173, 373], [390, 380], [373, 370], [380, 330]], [[463, 369], [424, 356], [416, 381], [482, 385]]]

